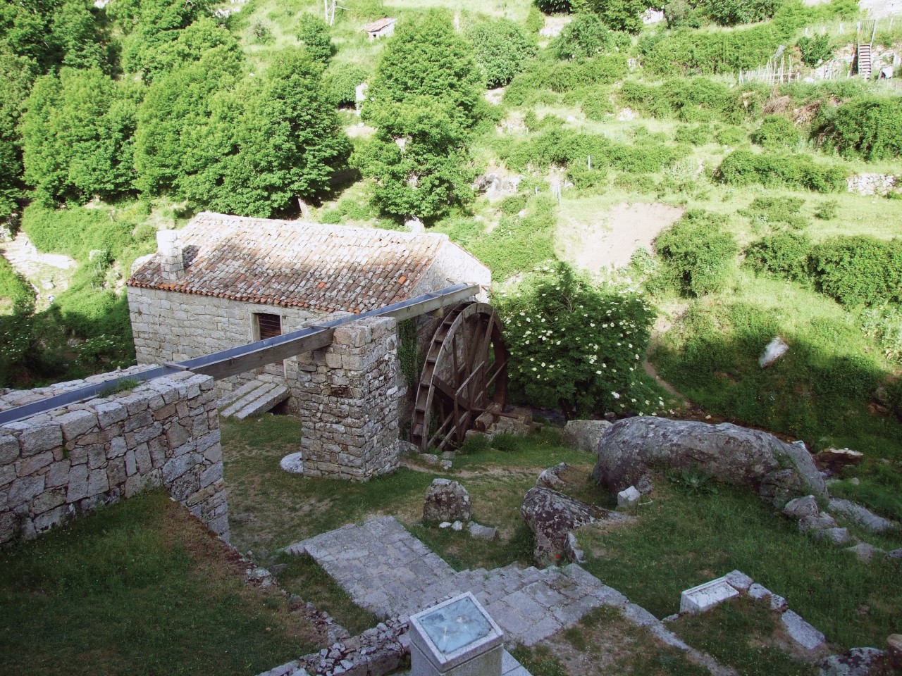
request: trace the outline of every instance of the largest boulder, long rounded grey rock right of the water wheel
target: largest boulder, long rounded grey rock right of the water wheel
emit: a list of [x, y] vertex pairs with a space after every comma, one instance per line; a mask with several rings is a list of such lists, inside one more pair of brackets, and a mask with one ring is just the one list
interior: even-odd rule
[[714, 480], [732, 484], [762, 486], [773, 475], [770, 478], [776, 477], [778, 483], [762, 495], [775, 500], [801, 490], [815, 497], [826, 495], [824, 479], [800, 446], [730, 423], [708, 425], [654, 416], [611, 425], [599, 440], [593, 476], [616, 495], [638, 486], [652, 468], [694, 466]]

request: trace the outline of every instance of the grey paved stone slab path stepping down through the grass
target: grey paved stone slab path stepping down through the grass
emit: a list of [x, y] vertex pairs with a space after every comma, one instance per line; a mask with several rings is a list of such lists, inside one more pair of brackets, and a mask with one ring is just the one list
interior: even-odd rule
[[345, 525], [288, 548], [308, 553], [356, 603], [379, 617], [410, 616], [442, 598], [472, 591], [508, 638], [536, 644], [599, 606], [628, 599], [576, 564], [539, 571], [516, 563], [456, 572], [391, 516]]

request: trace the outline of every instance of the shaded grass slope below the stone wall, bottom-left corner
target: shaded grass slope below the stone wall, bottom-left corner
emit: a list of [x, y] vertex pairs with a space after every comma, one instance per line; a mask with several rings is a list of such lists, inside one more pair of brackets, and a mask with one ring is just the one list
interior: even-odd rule
[[246, 674], [316, 650], [281, 595], [164, 491], [0, 553], [0, 672]]

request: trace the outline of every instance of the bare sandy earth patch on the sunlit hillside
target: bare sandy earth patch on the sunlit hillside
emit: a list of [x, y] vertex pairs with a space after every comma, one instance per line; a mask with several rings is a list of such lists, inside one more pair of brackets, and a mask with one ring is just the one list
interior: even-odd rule
[[621, 268], [632, 254], [651, 249], [665, 228], [683, 215], [683, 209], [658, 203], [623, 202], [590, 221], [564, 216], [558, 226], [558, 254], [589, 272]]

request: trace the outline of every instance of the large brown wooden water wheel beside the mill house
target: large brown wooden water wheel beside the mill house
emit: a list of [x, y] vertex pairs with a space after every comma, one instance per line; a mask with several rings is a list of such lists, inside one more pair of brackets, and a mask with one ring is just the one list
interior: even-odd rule
[[498, 315], [487, 303], [453, 307], [426, 351], [410, 441], [421, 451], [450, 450], [464, 442], [477, 418], [499, 414], [506, 400], [507, 350]]

